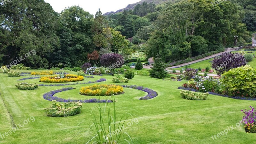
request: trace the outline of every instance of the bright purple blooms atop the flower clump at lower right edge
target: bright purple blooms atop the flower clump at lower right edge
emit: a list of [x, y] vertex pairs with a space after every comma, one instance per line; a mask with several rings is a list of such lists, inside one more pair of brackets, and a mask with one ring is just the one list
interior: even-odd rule
[[244, 124], [252, 124], [252, 123], [255, 123], [256, 122], [256, 111], [255, 111], [255, 108], [250, 106], [250, 109], [246, 111], [245, 110], [241, 110], [241, 111], [244, 111], [244, 115], [243, 116], [243, 122]]

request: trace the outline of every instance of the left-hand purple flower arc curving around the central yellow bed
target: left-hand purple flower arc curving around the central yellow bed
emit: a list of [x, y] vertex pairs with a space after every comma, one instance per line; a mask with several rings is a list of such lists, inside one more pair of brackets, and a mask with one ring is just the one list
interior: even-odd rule
[[70, 99], [62, 99], [62, 98], [59, 98], [59, 97], [54, 97], [54, 94], [56, 93], [59, 93], [59, 92], [63, 92], [63, 91], [68, 91], [68, 90], [73, 90], [75, 88], [72, 88], [72, 87], [67, 87], [67, 88], [62, 88], [62, 89], [59, 89], [59, 90], [54, 90], [54, 91], [50, 91], [50, 92], [47, 92], [43, 95], [44, 99], [45, 100], [49, 100], [49, 101], [52, 101], [52, 100], [56, 100], [58, 102], [82, 102], [82, 103], [99, 103], [99, 102], [103, 102], [103, 103], [106, 103], [106, 102], [113, 102], [112, 100], [99, 100], [99, 99], [89, 99], [89, 100], [70, 100]]

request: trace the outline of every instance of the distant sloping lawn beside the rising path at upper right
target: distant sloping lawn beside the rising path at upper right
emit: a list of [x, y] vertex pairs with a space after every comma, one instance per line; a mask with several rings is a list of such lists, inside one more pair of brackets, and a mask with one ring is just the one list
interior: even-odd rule
[[[235, 52], [238, 52], [238, 51], [233, 51], [232, 53], [235, 53]], [[245, 51], [246, 53], [248, 53], [249, 51]], [[255, 53], [249, 53], [249, 54], [256, 54], [256, 51]], [[205, 69], [206, 67], [209, 67], [211, 68], [211, 65], [212, 63], [210, 61], [212, 61], [213, 58], [211, 59], [208, 59], [208, 60], [203, 60], [203, 61], [200, 61], [200, 62], [197, 62], [197, 63], [193, 63], [193, 64], [190, 64], [190, 66], [188, 66], [188, 68], [193, 68], [193, 69], [198, 69], [199, 67], [201, 67], [202, 69]], [[253, 58], [253, 60], [251, 62], [248, 63], [252, 68], [256, 68], [256, 58]], [[184, 67], [180, 67], [180, 68], [171, 68], [171, 69], [175, 69], [175, 70], [181, 70], [182, 68], [185, 68], [186, 66]]]

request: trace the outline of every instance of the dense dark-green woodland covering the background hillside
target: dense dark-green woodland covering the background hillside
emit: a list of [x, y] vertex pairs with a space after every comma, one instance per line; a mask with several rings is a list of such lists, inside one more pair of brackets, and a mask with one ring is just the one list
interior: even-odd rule
[[[100, 10], [93, 16], [79, 6], [57, 13], [43, 0], [0, 2], [0, 65], [32, 49], [36, 55], [23, 60], [25, 66], [61, 68], [96, 63], [95, 50], [125, 57], [141, 43], [148, 57], [160, 54], [165, 62], [250, 43], [256, 31], [255, 0], [211, 2], [142, 3], [109, 16]], [[125, 40], [132, 37], [132, 43]]]

